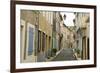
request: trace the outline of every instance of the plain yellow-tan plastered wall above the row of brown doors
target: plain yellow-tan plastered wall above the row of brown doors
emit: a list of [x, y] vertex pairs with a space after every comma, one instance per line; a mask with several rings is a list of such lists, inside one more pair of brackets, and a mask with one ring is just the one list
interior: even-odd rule
[[50, 45], [51, 43], [49, 44], [49, 36], [52, 36], [52, 26], [46, 20], [46, 17], [43, 16], [41, 13], [39, 14], [39, 30], [47, 35], [46, 47], [45, 47], [45, 51], [47, 51], [49, 49], [49, 46], [51, 46]]

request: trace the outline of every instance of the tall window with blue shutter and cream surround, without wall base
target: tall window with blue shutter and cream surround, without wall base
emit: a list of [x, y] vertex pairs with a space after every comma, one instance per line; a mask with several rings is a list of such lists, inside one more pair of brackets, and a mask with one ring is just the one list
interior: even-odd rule
[[33, 24], [27, 24], [27, 46], [26, 55], [27, 57], [35, 53], [35, 26]]

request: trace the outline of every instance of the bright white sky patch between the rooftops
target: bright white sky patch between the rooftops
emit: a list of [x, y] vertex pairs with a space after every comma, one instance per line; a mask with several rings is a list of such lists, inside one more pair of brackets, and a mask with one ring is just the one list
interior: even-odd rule
[[66, 19], [64, 20], [64, 24], [66, 26], [74, 26], [73, 19], [75, 19], [75, 15], [73, 12], [61, 12], [61, 15], [66, 15]]

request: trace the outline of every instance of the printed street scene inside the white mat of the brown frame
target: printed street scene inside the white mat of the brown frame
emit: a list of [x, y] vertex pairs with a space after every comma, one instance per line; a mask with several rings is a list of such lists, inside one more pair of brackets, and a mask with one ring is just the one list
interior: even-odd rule
[[21, 10], [21, 61], [89, 59], [89, 20], [89, 13]]

